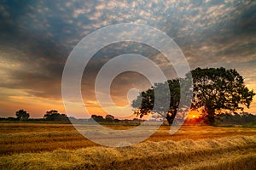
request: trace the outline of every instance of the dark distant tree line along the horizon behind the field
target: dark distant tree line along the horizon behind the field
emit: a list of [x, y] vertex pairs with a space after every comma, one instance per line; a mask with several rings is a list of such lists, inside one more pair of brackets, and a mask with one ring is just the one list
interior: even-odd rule
[[[143, 122], [142, 119], [133, 118], [133, 119], [124, 119], [119, 120], [117, 118], [114, 118], [112, 115], [107, 115], [105, 118], [100, 115], [91, 115], [89, 119], [76, 119], [74, 117], [68, 117], [65, 114], [61, 114], [58, 111], [51, 110], [46, 111], [46, 114], [44, 114], [43, 118], [37, 118], [37, 119], [29, 119], [30, 115], [25, 110], [19, 110], [16, 111], [16, 117], [8, 117], [3, 118], [0, 117], [0, 121], [23, 121], [23, 122], [67, 122], [69, 123], [69, 119], [81, 121], [81, 122], [91, 122], [91, 120], [95, 120], [96, 122], [121, 122], [121, 123], [135, 123], [140, 124]], [[205, 124], [204, 122], [204, 116], [199, 116], [195, 118], [187, 119], [185, 124]], [[152, 120], [153, 121], [153, 120]], [[155, 121], [155, 120], [154, 120]], [[219, 113], [215, 117], [216, 125], [249, 125], [249, 126], [255, 126], [256, 125], [256, 115], [253, 115], [251, 113], [247, 112], [241, 112], [241, 113]]]

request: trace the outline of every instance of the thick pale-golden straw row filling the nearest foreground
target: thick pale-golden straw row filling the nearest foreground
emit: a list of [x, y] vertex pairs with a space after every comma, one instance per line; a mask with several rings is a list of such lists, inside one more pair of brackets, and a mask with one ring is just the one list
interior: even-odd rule
[[0, 157], [2, 169], [254, 169], [256, 136], [144, 142], [124, 148], [22, 153]]

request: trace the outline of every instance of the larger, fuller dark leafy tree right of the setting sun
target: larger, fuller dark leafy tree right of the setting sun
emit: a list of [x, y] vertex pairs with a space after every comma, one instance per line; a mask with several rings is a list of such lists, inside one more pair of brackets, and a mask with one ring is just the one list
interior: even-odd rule
[[197, 68], [191, 72], [194, 84], [191, 109], [201, 108], [205, 121], [212, 125], [216, 111], [243, 110], [253, 101], [253, 90], [249, 90], [241, 75], [235, 70], [224, 68]]

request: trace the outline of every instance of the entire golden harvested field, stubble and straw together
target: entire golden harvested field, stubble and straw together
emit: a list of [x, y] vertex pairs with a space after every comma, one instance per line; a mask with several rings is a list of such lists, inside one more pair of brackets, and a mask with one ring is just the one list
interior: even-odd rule
[[1, 169], [256, 169], [255, 127], [183, 126], [170, 135], [163, 126], [143, 143], [111, 148], [71, 124], [0, 125]]

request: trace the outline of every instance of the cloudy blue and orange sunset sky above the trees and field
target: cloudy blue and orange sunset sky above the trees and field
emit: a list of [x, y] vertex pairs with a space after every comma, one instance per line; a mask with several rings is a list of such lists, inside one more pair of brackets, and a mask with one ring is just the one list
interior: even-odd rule
[[[67, 57], [90, 33], [120, 23], [157, 28], [177, 43], [191, 69], [235, 68], [247, 87], [256, 91], [253, 0], [2, 0], [0, 117], [15, 116], [20, 109], [31, 117], [43, 117], [49, 110], [66, 113], [61, 76]], [[175, 65], [146, 44], [110, 44], [99, 50], [84, 69], [81, 92], [91, 114], [102, 114], [94, 89], [102, 65], [115, 56], [131, 53], [152, 59], [167, 78], [177, 77]], [[150, 83], [136, 72], [120, 74], [111, 84], [113, 102], [129, 105], [126, 94], [131, 88], [144, 90], [150, 88]], [[256, 113], [255, 97], [246, 111]]]

